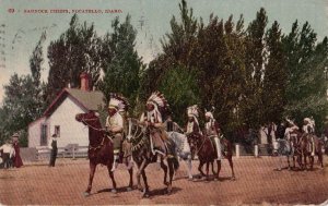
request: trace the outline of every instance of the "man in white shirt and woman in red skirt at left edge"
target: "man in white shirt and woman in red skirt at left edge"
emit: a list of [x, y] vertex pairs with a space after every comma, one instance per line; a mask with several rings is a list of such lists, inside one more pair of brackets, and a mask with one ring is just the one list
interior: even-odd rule
[[2, 165], [4, 169], [20, 168], [23, 161], [20, 155], [19, 134], [15, 133], [0, 147]]

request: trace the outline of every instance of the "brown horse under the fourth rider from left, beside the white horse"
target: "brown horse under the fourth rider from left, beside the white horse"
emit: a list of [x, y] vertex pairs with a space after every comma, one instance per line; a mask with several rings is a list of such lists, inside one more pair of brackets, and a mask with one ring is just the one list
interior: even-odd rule
[[[211, 163], [212, 166], [212, 173], [214, 175], [214, 180], [219, 180], [219, 174], [221, 171], [221, 160], [218, 160], [218, 154], [215, 152], [214, 145], [212, 144], [211, 140], [208, 136], [201, 135], [201, 134], [191, 134], [188, 136], [188, 141], [191, 147], [191, 150], [194, 150], [195, 154], [198, 155], [199, 158], [199, 166], [198, 171], [202, 177], [206, 177], [207, 180], [209, 180], [209, 166]], [[222, 155], [224, 158], [229, 160], [229, 165], [231, 167], [232, 171], [232, 178], [231, 180], [235, 180], [235, 172], [234, 172], [234, 165], [232, 161], [232, 144], [226, 140], [222, 138], [221, 145], [224, 146], [224, 149], [222, 150]], [[213, 162], [216, 159], [218, 165], [218, 173], [214, 171]], [[204, 174], [202, 172], [202, 166], [207, 163], [207, 173]]]

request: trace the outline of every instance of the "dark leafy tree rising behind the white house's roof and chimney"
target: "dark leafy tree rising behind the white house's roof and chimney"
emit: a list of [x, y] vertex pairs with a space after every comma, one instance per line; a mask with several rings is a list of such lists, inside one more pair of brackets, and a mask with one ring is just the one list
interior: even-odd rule
[[92, 85], [97, 85], [101, 72], [101, 39], [94, 25], [79, 23], [74, 14], [69, 28], [48, 47], [49, 75], [46, 99], [49, 104], [58, 93], [70, 84], [80, 86], [80, 74], [91, 74]]

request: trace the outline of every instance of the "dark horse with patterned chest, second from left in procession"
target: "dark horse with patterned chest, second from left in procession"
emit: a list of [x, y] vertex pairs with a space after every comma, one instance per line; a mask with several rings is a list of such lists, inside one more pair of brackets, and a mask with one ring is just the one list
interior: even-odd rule
[[[137, 181], [138, 181], [138, 189], [142, 191], [140, 175], [142, 175], [144, 182], [144, 192], [143, 197], [150, 196], [149, 185], [145, 175], [145, 168], [149, 163], [156, 162], [157, 156], [153, 155], [151, 150], [150, 144], [150, 136], [148, 129], [142, 126], [138, 120], [129, 119], [129, 133], [127, 138], [132, 143], [132, 157], [134, 162], [138, 166], [137, 172]], [[168, 150], [174, 149], [174, 142], [168, 142]], [[168, 154], [172, 154], [168, 153]], [[172, 192], [172, 180], [176, 169], [178, 169], [178, 161], [172, 155], [167, 155], [167, 165], [168, 165], [168, 172], [169, 172], [169, 180], [167, 179], [167, 166], [164, 163], [164, 157], [161, 156], [161, 168], [164, 170], [164, 184], [167, 186], [167, 193]]]

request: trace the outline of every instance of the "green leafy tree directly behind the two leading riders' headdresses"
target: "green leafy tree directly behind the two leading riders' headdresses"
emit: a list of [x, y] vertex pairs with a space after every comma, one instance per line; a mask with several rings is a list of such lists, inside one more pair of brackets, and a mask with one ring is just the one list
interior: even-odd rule
[[114, 32], [105, 35], [102, 45], [105, 75], [99, 88], [106, 101], [110, 93], [120, 93], [133, 108], [138, 97], [139, 74], [144, 66], [134, 48], [137, 31], [131, 25], [130, 15], [124, 23], [116, 17], [112, 27]]

